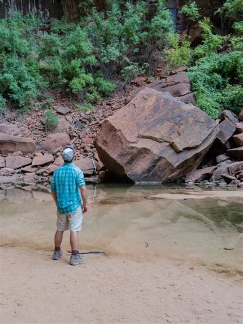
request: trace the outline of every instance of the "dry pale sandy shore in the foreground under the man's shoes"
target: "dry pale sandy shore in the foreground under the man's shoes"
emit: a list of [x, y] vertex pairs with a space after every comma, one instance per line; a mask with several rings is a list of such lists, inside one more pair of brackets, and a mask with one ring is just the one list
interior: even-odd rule
[[2, 247], [2, 323], [240, 323], [239, 277], [163, 258], [88, 255], [69, 265], [51, 251]]

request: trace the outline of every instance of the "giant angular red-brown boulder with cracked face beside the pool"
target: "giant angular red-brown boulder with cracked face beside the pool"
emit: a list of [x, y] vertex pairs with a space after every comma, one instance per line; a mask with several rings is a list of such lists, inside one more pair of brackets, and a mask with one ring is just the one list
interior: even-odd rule
[[95, 147], [119, 177], [171, 182], [198, 167], [217, 134], [217, 124], [199, 108], [145, 87], [103, 122]]

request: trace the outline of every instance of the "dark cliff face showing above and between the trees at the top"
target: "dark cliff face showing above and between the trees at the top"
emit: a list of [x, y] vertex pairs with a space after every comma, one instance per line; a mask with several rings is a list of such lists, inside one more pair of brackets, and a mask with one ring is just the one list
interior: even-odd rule
[[[222, 6], [224, 0], [196, 0], [197, 7], [200, 8], [202, 16], [210, 17], [214, 24], [219, 25], [219, 18], [215, 17], [214, 12]], [[25, 15], [33, 12], [42, 20], [49, 18], [60, 18], [65, 15], [70, 20], [75, 20], [82, 15], [83, 0], [0, 0], [0, 18], [10, 16], [14, 11]], [[148, 1], [148, 5], [153, 4]], [[98, 11], [105, 9], [105, 2], [94, 1]], [[168, 0], [169, 10], [171, 11], [176, 29], [181, 34], [191, 36], [192, 45], [200, 43], [200, 27], [197, 23], [190, 21], [185, 15], [180, 13], [180, 9], [186, 1]]]

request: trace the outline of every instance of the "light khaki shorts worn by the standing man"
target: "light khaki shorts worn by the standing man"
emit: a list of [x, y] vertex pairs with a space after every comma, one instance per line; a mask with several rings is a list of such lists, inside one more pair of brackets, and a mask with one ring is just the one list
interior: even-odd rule
[[59, 214], [57, 212], [56, 227], [57, 231], [64, 232], [70, 230], [71, 232], [81, 231], [83, 221], [83, 212], [81, 206], [71, 214]]

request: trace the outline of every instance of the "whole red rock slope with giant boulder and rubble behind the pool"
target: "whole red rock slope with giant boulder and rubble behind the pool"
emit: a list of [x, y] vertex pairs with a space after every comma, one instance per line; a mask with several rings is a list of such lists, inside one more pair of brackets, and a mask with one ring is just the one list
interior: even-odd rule
[[51, 109], [58, 125], [49, 132], [44, 109], [31, 111], [25, 123], [13, 111], [8, 121], [0, 116], [0, 183], [48, 188], [63, 164], [60, 152], [73, 144], [74, 162], [90, 182], [109, 180], [111, 173], [138, 183], [181, 179], [243, 187], [243, 110], [238, 116], [224, 110], [213, 121], [195, 106], [186, 70], [152, 83], [137, 77], [129, 93], [85, 113], [57, 94]]

